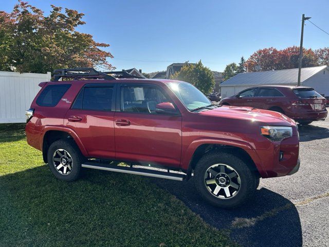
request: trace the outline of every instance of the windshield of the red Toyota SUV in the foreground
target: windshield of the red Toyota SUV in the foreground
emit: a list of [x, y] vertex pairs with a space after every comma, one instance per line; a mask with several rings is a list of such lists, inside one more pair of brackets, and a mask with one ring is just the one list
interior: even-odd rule
[[207, 107], [211, 104], [211, 101], [190, 83], [171, 82], [169, 87], [190, 111]]

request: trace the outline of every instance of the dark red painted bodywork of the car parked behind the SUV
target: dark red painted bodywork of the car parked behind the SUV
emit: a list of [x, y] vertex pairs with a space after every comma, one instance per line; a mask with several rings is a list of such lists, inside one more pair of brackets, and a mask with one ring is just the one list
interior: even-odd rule
[[[281, 109], [281, 112], [286, 116], [304, 121], [324, 120], [327, 117], [327, 110], [325, 109], [326, 99], [324, 97], [300, 99], [293, 92], [296, 89], [310, 89], [304, 86], [257, 86], [250, 87], [250, 89], [269, 88], [276, 89], [282, 93], [282, 97], [259, 97], [258, 93], [254, 97], [236, 97], [244, 91], [222, 99], [220, 104], [253, 107], [264, 110]], [[318, 103], [321, 105], [320, 110], [315, 110], [314, 105]], [[304, 105], [302, 105], [304, 104]]]

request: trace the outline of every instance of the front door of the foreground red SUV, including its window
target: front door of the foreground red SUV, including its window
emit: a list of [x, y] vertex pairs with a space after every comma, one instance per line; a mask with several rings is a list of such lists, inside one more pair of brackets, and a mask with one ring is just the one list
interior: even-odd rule
[[117, 98], [117, 160], [179, 167], [180, 113], [156, 112], [158, 103], [172, 102], [165, 91], [155, 84], [127, 83], [120, 85]]

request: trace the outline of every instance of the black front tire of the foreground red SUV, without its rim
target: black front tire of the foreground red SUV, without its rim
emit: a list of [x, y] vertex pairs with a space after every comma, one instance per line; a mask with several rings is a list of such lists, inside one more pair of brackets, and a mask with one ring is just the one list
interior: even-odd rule
[[[215, 196], [213, 193], [216, 191], [217, 186], [230, 187], [230, 185], [227, 186], [218, 184], [220, 183], [220, 176], [222, 176], [224, 173], [218, 173], [216, 177], [213, 178], [213, 180], [216, 180], [216, 183], [212, 182], [213, 184], [210, 185], [215, 186], [213, 191], [209, 186], [206, 185], [206, 180], [208, 181], [209, 179], [206, 179], [205, 176], [210, 176], [208, 170], [216, 164], [224, 164], [226, 171], [228, 167], [230, 167], [237, 173], [236, 177], [230, 178], [230, 181], [228, 179], [229, 184], [233, 182], [233, 179], [240, 178], [240, 184], [235, 181], [235, 186], [236, 184], [239, 184], [239, 190], [235, 192], [235, 195], [233, 195], [234, 192], [232, 192], [232, 197], [226, 198], [226, 190], [224, 188], [222, 189], [222, 187], [220, 188], [219, 192], [217, 191], [216, 193], [218, 196], [220, 196], [220, 194], [225, 191], [225, 195], [220, 196], [222, 198]], [[218, 171], [218, 167], [221, 168], [221, 166], [214, 168]], [[202, 158], [200, 158], [199, 162], [197, 163], [194, 169], [194, 183], [200, 195], [210, 204], [221, 208], [235, 208], [247, 202], [248, 199], [253, 196], [257, 186], [257, 177], [254, 172], [249, 169], [247, 164], [239, 157], [223, 151], [210, 151], [206, 153]], [[234, 184], [234, 182], [232, 184]], [[209, 189], [211, 191], [209, 191]], [[232, 188], [230, 188], [230, 190], [231, 189]]]

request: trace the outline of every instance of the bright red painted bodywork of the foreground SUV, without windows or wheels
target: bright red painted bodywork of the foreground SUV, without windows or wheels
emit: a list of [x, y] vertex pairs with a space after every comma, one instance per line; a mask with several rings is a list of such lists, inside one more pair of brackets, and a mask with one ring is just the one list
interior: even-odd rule
[[[60, 130], [75, 139], [86, 157], [140, 162], [185, 171], [197, 147], [218, 144], [245, 150], [263, 178], [286, 175], [294, 169], [299, 155], [298, 130], [294, 120], [277, 112], [249, 107], [223, 106], [190, 112], [166, 85], [168, 82], [175, 81], [66, 81], [66, 84], [72, 84], [62, 97], [67, 100], [60, 100], [56, 107], [37, 105], [35, 101], [39, 92], [31, 104], [31, 108], [35, 109], [34, 115], [26, 126], [28, 144], [42, 150], [45, 133], [48, 130]], [[61, 82], [48, 82], [46, 85], [57, 83]], [[118, 105], [113, 111], [70, 109], [86, 83], [114, 83], [118, 88], [120, 83], [157, 85], [172, 100], [172, 103], [160, 103], [157, 107], [161, 110], [175, 109], [176, 114], [121, 112]], [[120, 97], [120, 94], [114, 94], [114, 97]], [[115, 102], [120, 102], [120, 99]], [[261, 126], [291, 126], [293, 136], [282, 142], [271, 142], [260, 134]], [[282, 161], [279, 161], [280, 151], [284, 152]]]

